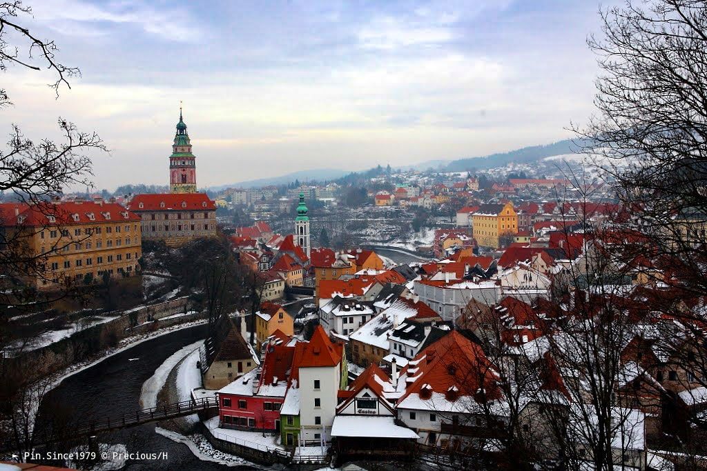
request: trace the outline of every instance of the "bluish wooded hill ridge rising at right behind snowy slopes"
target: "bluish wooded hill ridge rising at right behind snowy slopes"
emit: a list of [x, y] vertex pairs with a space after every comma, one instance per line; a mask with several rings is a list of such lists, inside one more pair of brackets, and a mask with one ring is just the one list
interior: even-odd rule
[[535, 162], [554, 155], [572, 154], [578, 150], [578, 145], [571, 139], [565, 139], [547, 145], [530, 145], [528, 147], [495, 153], [484, 157], [468, 157], [452, 160], [446, 167], [448, 172], [464, 172], [472, 169], [484, 170], [503, 167], [510, 163]]

